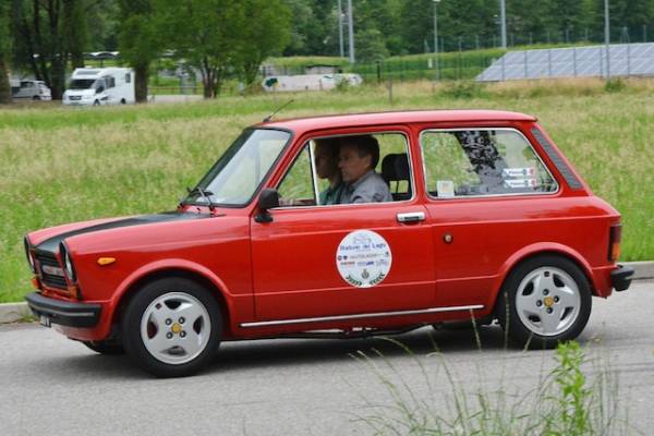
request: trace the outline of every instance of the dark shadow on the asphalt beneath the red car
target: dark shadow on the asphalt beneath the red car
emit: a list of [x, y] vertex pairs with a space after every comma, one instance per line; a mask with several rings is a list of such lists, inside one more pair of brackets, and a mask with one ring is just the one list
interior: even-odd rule
[[[467, 358], [485, 353], [508, 353], [512, 356], [522, 349], [506, 344], [504, 330], [497, 326], [473, 329], [440, 329], [423, 327], [411, 332], [359, 339], [258, 339], [225, 342], [216, 359], [202, 372], [204, 375], [261, 368], [290, 367], [319, 363], [349, 363], [354, 358], [424, 356], [440, 352], [445, 356]], [[153, 378], [141, 372], [122, 355], [100, 355], [88, 350], [86, 354], [53, 358], [35, 364], [36, 371], [77, 382], [84, 378], [137, 380]]]

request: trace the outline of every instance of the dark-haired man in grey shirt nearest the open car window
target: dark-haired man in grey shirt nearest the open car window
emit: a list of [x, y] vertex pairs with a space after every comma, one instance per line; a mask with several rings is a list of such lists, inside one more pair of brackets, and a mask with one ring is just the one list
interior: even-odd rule
[[375, 172], [379, 144], [371, 135], [341, 138], [338, 168], [344, 183], [339, 203], [392, 202], [388, 185]]

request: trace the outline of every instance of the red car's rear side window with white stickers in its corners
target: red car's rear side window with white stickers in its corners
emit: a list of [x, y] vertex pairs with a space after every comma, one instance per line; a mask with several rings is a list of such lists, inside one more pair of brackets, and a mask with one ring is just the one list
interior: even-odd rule
[[421, 134], [429, 196], [538, 194], [558, 186], [518, 131], [450, 130]]

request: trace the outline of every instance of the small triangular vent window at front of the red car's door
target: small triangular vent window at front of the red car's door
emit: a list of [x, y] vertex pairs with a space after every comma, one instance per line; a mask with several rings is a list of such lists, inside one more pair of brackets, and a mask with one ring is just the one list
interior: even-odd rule
[[316, 196], [311, 166], [310, 144], [304, 145], [278, 187], [281, 206], [313, 206]]

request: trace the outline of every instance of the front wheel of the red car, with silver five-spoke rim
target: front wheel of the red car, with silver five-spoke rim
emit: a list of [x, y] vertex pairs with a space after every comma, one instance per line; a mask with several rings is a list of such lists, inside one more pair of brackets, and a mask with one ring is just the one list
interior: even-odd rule
[[[165, 299], [170, 300], [166, 300], [165, 303], [154, 304], [155, 301], [160, 302]], [[182, 305], [180, 304], [178, 308], [169, 305], [169, 301], [174, 303], [174, 299], [192, 302], [192, 306], [201, 311], [204, 310], [205, 315], [195, 320], [190, 320], [184, 325], [185, 320], [182, 317], [178, 318], [174, 314], [174, 311], [179, 310]], [[165, 320], [156, 324], [148, 320], [150, 318], [146, 314], [146, 311], [150, 311], [148, 312], [149, 314], [161, 311], [161, 314], [168, 315], [164, 316]], [[153, 319], [159, 317], [159, 314], [156, 315]], [[171, 320], [171, 324], [168, 324], [170, 319], [174, 319], [174, 322]], [[143, 334], [142, 320], [147, 326]], [[152, 338], [144, 339], [144, 335], [150, 335], [150, 329], [155, 330]], [[180, 329], [182, 330], [180, 331]], [[184, 358], [184, 354], [180, 350], [185, 353], [186, 346], [184, 343], [191, 347], [194, 347], [194, 343], [191, 341], [191, 337], [185, 339], [185, 331], [189, 331], [191, 336], [196, 335], [198, 338], [203, 338], [204, 343], [204, 346], [198, 347], [198, 350], [195, 350], [187, 358]], [[128, 355], [142, 370], [157, 377], [183, 377], [202, 370], [203, 366], [214, 359], [218, 351], [221, 334], [222, 317], [218, 303], [202, 286], [184, 278], [166, 278], [146, 284], [134, 294], [122, 318], [122, 341]], [[155, 355], [148, 351], [148, 346], [146, 346], [145, 341], [154, 341], [155, 339], [164, 341], [164, 337], [159, 335], [166, 335], [166, 339], [171, 340], [171, 346], [167, 349], [166, 353], [160, 351]], [[185, 340], [190, 342], [183, 342]], [[177, 344], [180, 344], [180, 347]], [[198, 354], [194, 355], [195, 352]], [[165, 361], [175, 359], [191, 360], [180, 362]]]

